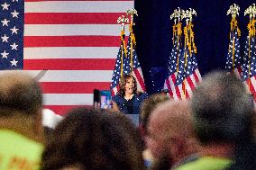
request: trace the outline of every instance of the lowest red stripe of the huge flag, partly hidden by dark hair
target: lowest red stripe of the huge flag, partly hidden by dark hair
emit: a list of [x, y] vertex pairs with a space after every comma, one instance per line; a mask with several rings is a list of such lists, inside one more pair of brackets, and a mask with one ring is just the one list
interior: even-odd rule
[[92, 108], [93, 106], [92, 105], [44, 105], [43, 106], [43, 108], [50, 109], [51, 111], [61, 116], [65, 115], [67, 112], [77, 107], [86, 107], [89, 109], [89, 108]]

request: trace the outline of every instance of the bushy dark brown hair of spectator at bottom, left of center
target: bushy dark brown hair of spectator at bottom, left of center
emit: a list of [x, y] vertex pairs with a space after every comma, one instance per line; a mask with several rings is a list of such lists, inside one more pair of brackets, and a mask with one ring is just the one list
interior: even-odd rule
[[52, 132], [41, 169], [72, 165], [87, 170], [144, 169], [139, 136], [127, 119], [104, 110], [69, 112]]

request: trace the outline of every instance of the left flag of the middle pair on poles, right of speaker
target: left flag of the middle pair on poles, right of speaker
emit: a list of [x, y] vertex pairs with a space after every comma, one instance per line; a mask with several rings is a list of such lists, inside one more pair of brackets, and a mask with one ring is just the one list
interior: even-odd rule
[[176, 76], [178, 68], [178, 58], [180, 58], [181, 50], [181, 23], [173, 25], [173, 48], [168, 60], [167, 78], [164, 82], [164, 88], [168, 89], [169, 97], [174, 100], [181, 98], [178, 86], [176, 86]]

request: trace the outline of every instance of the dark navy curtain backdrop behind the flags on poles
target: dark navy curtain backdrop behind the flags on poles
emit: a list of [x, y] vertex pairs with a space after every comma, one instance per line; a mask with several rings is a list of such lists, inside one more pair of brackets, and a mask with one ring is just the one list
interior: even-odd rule
[[197, 11], [193, 21], [197, 61], [204, 76], [213, 69], [224, 69], [231, 21], [231, 16], [227, 16], [226, 12], [233, 3], [241, 8], [238, 23], [242, 31], [243, 51], [249, 21], [249, 17], [244, 17], [243, 13], [255, 0], [135, 0], [135, 9], [139, 14], [134, 27], [137, 53], [149, 94], [155, 93], [164, 81], [162, 68], [166, 67], [172, 46], [173, 21], [169, 20], [169, 15], [173, 10], [191, 7]]

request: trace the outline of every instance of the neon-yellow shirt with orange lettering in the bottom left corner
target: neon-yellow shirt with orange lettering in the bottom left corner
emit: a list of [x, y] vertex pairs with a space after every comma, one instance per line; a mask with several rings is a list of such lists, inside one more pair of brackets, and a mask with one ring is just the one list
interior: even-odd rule
[[41, 165], [43, 146], [13, 130], [0, 130], [0, 169], [34, 170]]

